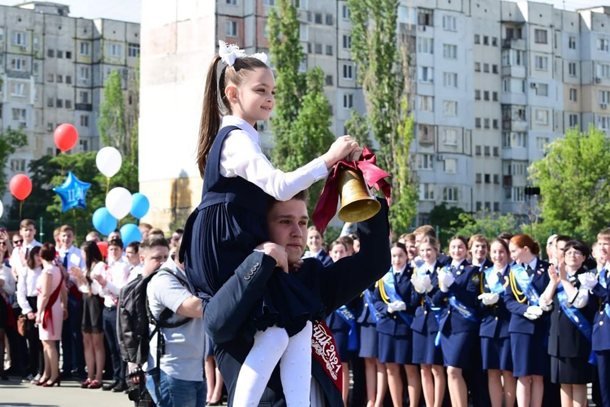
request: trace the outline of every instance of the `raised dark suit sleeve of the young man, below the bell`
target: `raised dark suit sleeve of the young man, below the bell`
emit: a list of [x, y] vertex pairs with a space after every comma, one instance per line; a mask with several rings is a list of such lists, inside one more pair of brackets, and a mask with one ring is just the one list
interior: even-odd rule
[[360, 251], [323, 268], [320, 292], [327, 312], [359, 295], [390, 268], [388, 207], [385, 200], [379, 202], [378, 214], [358, 223]]

